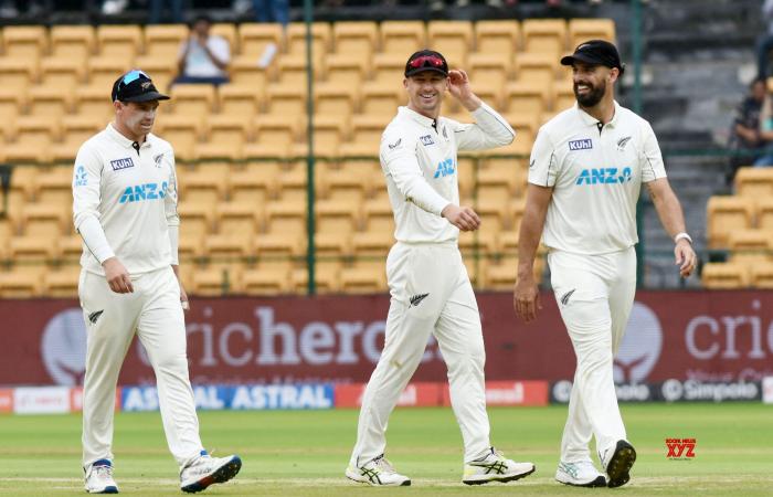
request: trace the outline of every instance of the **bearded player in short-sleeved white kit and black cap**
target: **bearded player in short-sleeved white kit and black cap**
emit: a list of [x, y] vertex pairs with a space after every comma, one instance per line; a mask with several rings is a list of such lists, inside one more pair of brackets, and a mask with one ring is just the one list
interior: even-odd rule
[[[533, 263], [544, 229], [553, 292], [578, 361], [555, 479], [618, 487], [636, 451], [617, 408], [612, 360], [634, 304], [643, 183], [674, 239], [681, 276], [695, 269], [696, 253], [649, 123], [614, 101], [624, 71], [615, 45], [587, 41], [561, 64], [572, 66], [578, 103], [540, 128], [531, 151], [513, 305], [527, 322], [540, 308]], [[591, 435], [606, 478], [591, 461]]]

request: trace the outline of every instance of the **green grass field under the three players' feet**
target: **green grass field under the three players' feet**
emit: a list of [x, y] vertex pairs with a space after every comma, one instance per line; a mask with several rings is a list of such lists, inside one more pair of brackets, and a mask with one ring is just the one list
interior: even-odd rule
[[[530, 477], [502, 485], [462, 485], [460, 435], [449, 409], [398, 410], [388, 457], [412, 487], [370, 488], [343, 477], [357, 411], [202, 412], [202, 438], [215, 455], [239, 453], [242, 472], [204, 495], [773, 495], [773, 406], [763, 404], [623, 405], [638, 461], [617, 489], [553, 480], [565, 406], [489, 409], [493, 441], [506, 455], [533, 461]], [[670, 461], [667, 437], [697, 438], [696, 457]], [[83, 495], [81, 417], [0, 416], [0, 494]], [[182, 495], [157, 413], [116, 416], [116, 479], [121, 494]]]

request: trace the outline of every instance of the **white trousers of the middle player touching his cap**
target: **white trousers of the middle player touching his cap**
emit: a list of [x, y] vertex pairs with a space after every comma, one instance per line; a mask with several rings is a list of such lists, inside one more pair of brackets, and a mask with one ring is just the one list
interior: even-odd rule
[[384, 453], [386, 422], [434, 334], [448, 369], [465, 461], [489, 446], [480, 315], [456, 243], [398, 242], [386, 257], [391, 294], [384, 349], [362, 395], [351, 464]]

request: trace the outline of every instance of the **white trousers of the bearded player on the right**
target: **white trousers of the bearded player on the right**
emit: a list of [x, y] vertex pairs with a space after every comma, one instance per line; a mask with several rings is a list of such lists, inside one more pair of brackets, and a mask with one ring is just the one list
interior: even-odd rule
[[548, 254], [551, 284], [576, 356], [561, 461], [591, 461], [595, 435], [601, 454], [626, 440], [613, 379], [613, 357], [636, 293], [634, 247], [603, 255]]

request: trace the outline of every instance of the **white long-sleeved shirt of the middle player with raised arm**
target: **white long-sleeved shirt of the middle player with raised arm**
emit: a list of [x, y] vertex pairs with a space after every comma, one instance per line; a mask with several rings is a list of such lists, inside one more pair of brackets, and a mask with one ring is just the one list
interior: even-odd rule
[[459, 203], [456, 173], [458, 150], [479, 150], [510, 144], [510, 125], [483, 104], [474, 113], [475, 124], [460, 124], [423, 116], [407, 107], [381, 136], [381, 169], [386, 177], [394, 212], [394, 237], [399, 242], [446, 242], [459, 230], [441, 216], [449, 203]]

